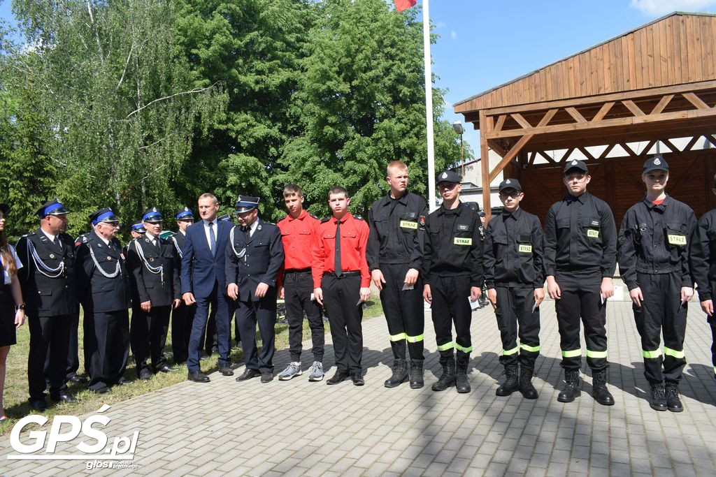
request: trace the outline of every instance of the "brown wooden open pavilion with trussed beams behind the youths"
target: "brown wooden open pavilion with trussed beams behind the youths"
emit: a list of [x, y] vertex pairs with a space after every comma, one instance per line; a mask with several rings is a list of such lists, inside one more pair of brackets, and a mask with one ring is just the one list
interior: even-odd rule
[[[716, 15], [674, 12], [454, 108], [480, 129], [488, 214], [490, 182], [504, 171], [543, 220], [566, 193], [564, 163], [579, 155], [589, 192], [609, 203], [619, 227], [644, 195], [642, 164], [655, 147], [669, 162], [669, 194], [697, 216], [716, 207]], [[488, 148], [502, 157], [492, 170]]]

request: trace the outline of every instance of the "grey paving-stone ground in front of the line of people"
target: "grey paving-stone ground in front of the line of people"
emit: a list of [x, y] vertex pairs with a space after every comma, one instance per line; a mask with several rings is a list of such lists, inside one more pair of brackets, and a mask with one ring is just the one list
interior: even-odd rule
[[[0, 473], [112, 476], [530, 475], [712, 476], [716, 469], [716, 382], [711, 335], [697, 303], [690, 303], [684, 413], [649, 408], [639, 337], [631, 305], [609, 303], [609, 384], [616, 405], [591, 398], [584, 375], [581, 398], [556, 401], [561, 388], [559, 340], [552, 302], [542, 305], [542, 355], [534, 379], [538, 400], [519, 393], [498, 398], [501, 345], [491, 308], [473, 313], [473, 391], [430, 390], [440, 365], [426, 313], [426, 386], [383, 387], [392, 360], [383, 318], [364, 322], [366, 385], [309, 383], [307, 373], [263, 385], [237, 383], [218, 373], [211, 383], [180, 383], [118, 403], [101, 428], [110, 438], [140, 431], [132, 464], [94, 469], [86, 461], [9, 461], [9, 436], [0, 441]], [[310, 349], [304, 343], [304, 353]], [[305, 354], [304, 354], [305, 355]], [[289, 361], [276, 353], [276, 372]], [[326, 365], [333, 348], [326, 336]], [[308, 368], [310, 363], [304, 363]], [[241, 372], [243, 367], [238, 368]], [[583, 368], [584, 370], [584, 368]], [[329, 369], [332, 375], [334, 369]], [[81, 416], [82, 419], [89, 415]], [[50, 425], [44, 426], [49, 431]], [[64, 432], [67, 428], [63, 428]], [[31, 443], [27, 436], [24, 443]], [[82, 433], [56, 453], [77, 454]], [[44, 453], [44, 450], [39, 452]], [[100, 454], [101, 456], [101, 454]]]

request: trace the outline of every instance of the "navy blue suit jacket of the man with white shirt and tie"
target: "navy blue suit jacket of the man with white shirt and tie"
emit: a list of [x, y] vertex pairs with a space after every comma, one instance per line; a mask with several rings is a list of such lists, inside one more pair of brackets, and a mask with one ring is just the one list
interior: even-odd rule
[[214, 284], [226, 295], [226, 243], [233, 223], [219, 220], [216, 225], [216, 255], [211, 255], [204, 232], [204, 221], [190, 225], [182, 249], [181, 292], [192, 292], [195, 297], [211, 295]]

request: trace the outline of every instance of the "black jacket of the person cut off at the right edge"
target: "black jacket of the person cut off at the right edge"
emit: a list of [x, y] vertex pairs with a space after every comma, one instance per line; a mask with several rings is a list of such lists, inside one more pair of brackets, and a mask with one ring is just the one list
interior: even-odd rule
[[691, 272], [699, 300], [713, 300], [716, 287], [716, 209], [706, 212], [694, 229], [689, 247]]

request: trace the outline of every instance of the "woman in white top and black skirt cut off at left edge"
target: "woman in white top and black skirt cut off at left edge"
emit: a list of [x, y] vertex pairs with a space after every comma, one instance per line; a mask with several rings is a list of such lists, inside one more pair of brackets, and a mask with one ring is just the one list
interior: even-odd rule
[[25, 321], [25, 305], [20, 282], [17, 280], [17, 270], [22, 267], [22, 263], [15, 253], [15, 248], [5, 237], [5, 216], [9, 209], [9, 205], [0, 204], [0, 423], [7, 420], [2, 405], [7, 354], [10, 346], [17, 343], [16, 328], [20, 328]]

